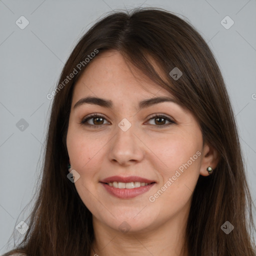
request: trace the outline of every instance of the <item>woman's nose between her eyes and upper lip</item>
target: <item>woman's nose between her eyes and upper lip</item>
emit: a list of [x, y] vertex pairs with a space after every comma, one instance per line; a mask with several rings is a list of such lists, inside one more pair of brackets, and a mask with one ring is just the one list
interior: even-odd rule
[[139, 137], [139, 132], [136, 132], [134, 125], [127, 130], [120, 127], [116, 127], [116, 135], [110, 142], [109, 160], [123, 166], [141, 161], [145, 145]]

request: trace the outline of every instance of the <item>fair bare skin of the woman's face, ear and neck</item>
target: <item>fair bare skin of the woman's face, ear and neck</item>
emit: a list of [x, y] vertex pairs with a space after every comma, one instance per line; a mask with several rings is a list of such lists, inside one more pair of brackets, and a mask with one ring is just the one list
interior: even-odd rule
[[[113, 108], [88, 103], [73, 108], [89, 95], [112, 100]], [[217, 152], [203, 144], [195, 117], [177, 103], [161, 102], [137, 110], [139, 101], [156, 96], [172, 95], [115, 50], [93, 59], [75, 84], [66, 144], [71, 168], [80, 175], [75, 188], [93, 216], [95, 252], [91, 255], [188, 255], [180, 250], [192, 191], [198, 176], [209, 175], [208, 166], [216, 167]], [[79, 123], [91, 113], [103, 115], [100, 127]], [[150, 119], [154, 113], [176, 123]], [[126, 131], [117, 125], [123, 118], [131, 123]], [[88, 122], [99, 126], [95, 118]], [[166, 187], [166, 181], [196, 152], [200, 152], [197, 159], [150, 201], [149, 196]], [[122, 199], [99, 183], [112, 175], [137, 175], [156, 183], [143, 194]], [[128, 223], [128, 232], [119, 229], [123, 221]]]

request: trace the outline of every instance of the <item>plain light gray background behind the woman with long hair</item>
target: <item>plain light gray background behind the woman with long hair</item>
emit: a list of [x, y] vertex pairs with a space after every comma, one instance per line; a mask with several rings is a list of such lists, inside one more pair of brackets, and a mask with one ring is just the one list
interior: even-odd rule
[[[125, 6], [182, 14], [206, 40], [226, 82], [256, 199], [255, 0], [0, 0], [0, 254], [11, 248], [8, 239], [32, 206], [22, 211], [40, 172], [52, 103], [46, 94], [79, 37], [102, 14]], [[15, 23], [21, 15], [29, 21], [24, 29]], [[229, 29], [220, 23], [226, 15], [234, 21]], [[23, 130], [16, 125], [21, 118], [28, 123]]]

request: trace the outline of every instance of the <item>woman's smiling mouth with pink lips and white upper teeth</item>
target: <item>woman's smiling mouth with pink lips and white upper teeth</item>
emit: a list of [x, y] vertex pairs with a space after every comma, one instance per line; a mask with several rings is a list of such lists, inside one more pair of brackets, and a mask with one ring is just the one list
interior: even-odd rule
[[118, 198], [133, 198], [148, 191], [156, 182], [138, 176], [111, 176], [99, 181], [106, 191]]

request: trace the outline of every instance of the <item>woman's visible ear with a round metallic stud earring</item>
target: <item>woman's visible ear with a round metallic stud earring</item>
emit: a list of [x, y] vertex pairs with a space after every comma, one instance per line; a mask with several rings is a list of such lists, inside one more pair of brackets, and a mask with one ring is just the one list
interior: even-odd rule
[[209, 143], [205, 142], [202, 150], [202, 161], [200, 167], [200, 175], [208, 176], [210, 175], [207, 171], [207, 167], [211, 167], [214, 171], [219, 161], [218, 151], [211, 146]]

